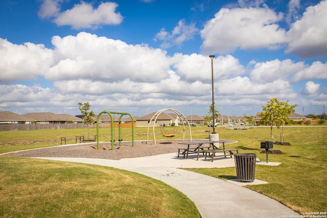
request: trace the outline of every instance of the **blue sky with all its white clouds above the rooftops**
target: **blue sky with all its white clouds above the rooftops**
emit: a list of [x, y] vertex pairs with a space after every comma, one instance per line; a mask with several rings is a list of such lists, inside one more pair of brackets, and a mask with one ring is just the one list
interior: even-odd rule
[[255, 115], [327, 106], [325, 1], [0, 2], [0, 111]]

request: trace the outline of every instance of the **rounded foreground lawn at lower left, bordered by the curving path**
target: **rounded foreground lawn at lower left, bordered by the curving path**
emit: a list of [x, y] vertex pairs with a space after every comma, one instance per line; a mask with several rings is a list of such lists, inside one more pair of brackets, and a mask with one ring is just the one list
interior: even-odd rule
[[0, 175], [0, 217], [199, 217], [175, 188], [111, 167], [0, 157]]

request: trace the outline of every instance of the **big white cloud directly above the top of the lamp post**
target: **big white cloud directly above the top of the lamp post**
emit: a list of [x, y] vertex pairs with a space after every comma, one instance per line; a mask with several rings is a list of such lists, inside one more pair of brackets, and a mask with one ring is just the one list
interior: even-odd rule
[[227, 54], [237, 50], [277, 49], [286, 42], [283, 18], [267, 8], [221, 9], [201, 30], [203, 53]]

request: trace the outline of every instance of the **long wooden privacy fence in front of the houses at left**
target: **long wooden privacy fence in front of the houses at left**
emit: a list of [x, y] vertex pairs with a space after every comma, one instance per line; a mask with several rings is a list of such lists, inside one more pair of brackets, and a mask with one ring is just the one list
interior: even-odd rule
[[[97, 128], [97, 125], [88, 125], [89, 128]], [[109, 124], [99, 124], [100, 128], [110, 127]], [[24, 131], [24, 130], [54, 130], [87, 128], [86, 124], [0, 124], [0, 131]]]

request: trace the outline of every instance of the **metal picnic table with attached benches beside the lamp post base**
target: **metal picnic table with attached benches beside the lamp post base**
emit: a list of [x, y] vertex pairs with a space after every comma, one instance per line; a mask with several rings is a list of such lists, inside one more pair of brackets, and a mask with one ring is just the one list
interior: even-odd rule
[[[180, 142], [178, 144], [185, 144], [185, 145], [188, 146], [188, 148], [178, 148], [177, 157], [179, 157], [179, 155], [182, 154], [183, 158], [185, 158], [185, 155], [186, 155], [186, 159], [188, 159], [189, 154], [197, 153], [197, 160], [199, 160], [199, 154], [203, 153], [203, 155], [205, 154], [205, 160], [206, 160], [207, 154], [208, 154], [209, 157], [212, 158], [212, 162], [213, 162], [214, 157], [216, 156], [216, 153], [218, 153], [218, 152], [223, 152], [224, 153], [224, 154], [222, 154], [220, 156], [225, 156], [225, 157], [230, 156], [230, 158], [233, 155], [232, 151], [237, 151], [237, 153], [239, 153], [239, 149], [225, 149], [225, 142], [226, 142], [225, 140]], [[219, 149], [218, 147], [216, 147], [215, 143], [222, 143], [223, 149]], [[209, 146], [203, 146], [203, 144], [209, 144]], [[194, 145], [196, 145], [196, 147], [191, 147], [190, 148], [190, 146], [194, 146]], [[226, 154], [226, 152], [229, 152], [229, 154]]]

